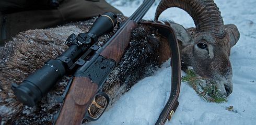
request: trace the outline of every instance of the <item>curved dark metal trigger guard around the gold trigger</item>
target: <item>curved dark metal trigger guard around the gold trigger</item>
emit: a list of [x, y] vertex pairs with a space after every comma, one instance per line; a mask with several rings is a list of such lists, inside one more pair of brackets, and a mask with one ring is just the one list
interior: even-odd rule
[[110, 101], [109, 96], [108, 96], [106, 93], [102, 92], [102, 91], [99, 91], [99, 92], [95, 95], [95, 97], [98, 96], [98, 95], [101, 95], [101, 96], [103, 96], [103, 97], [106, 99], [107, 105], [105, 106], [105, 108], [103, 109], [102, 113], [101, 113], [98, 117], [91, 117], [91, 116], [89, 115], [89, 113], [88, 113], [89, 111], [87, 111], [86, 114], [85, 114], [85, 116], [84, 116], [84, 119], [87, 119], [87, 120], [90, 120], [90, 121], [96, 121], [96, 120], [98, 120], [98, 119], [102, 116], [102, 114], [104, 113], [104, 111], [105, 111], [106, 108], [108, 107], [109, 101]]

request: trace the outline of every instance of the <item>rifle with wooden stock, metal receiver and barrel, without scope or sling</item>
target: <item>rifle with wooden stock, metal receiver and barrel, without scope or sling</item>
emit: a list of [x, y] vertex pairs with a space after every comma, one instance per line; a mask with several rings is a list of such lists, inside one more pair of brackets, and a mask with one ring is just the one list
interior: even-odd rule
[[[71, 84], [55, 124], [80, 124], [84, 118], [97, 120], [102, 115], [109, 104], [108, 95], [100, 91], [102, 85], [129, 46], [132, 29], [153, 3], [154, 0], [145, 0], [107, 43], [102, 47], [93, 47], [91, 57], [76, 70], [74, 78], [69, 82]], [[97, 104], [96, 96], [104, 97], [106, 103]], [[92, 105], [103, 109], [99, 116], [91, 114]]]

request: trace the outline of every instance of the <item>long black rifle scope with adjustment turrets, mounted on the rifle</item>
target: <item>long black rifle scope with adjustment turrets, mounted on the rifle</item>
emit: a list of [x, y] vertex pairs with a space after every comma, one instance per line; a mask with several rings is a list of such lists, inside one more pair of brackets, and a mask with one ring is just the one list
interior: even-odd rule
[[94, 22], [86, 33], [72, 34], [66, 40], [69, 48], [55, 59], [45, 62], [45, 65], [31, 74], [19, 85], [11, 84], [11, 89], [21, 103], [32, 107], [46, 95], [55, 83], [68, 71], [73, 70], [75, 62], [88, 48], [98, 41], [103, 33], [111, 31], [117, 24], [117, 15], [105, 12]]

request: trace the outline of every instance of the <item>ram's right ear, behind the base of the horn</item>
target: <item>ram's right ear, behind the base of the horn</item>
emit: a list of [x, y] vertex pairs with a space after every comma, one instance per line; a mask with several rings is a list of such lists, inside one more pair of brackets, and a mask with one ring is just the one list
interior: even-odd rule
[[234, 24], [226, 24], [224, 27], [226, 36], [229, 39], [230, 47], [233, 47], [239, 40], [240, 33]]

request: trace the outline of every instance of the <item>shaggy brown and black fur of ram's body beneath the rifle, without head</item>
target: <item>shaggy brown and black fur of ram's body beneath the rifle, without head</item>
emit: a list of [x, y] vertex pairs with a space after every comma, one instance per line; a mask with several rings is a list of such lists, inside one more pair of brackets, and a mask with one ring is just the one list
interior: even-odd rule
[[[53, 90], [33, 108], [17, 101], [10, 89], [10, 84], [21, 83], [29, 74], [43, 66], [47, 59], [55, 58], [64, 52], [68, 48], [64, 44], [66, 38], [72, 33], [88, 31], [95, 19], [67, 24], [64, 27], [19, 33], [5, 47], [0, 47], [0, 89], [2, 91], [0, 113], [3, 123], [51, 124], [53, 115], [60, 108], [60, 104], [57, 104], [54, 99], [63, 94], [68, 81], [67, 76], [61, 79]], [[152, 28], [138, 26], [134, 29], [130, 47], [104, 84], [102, 91], [106, 92], [111, 99], [109, 107], [139, 79], [152, 74], [155, 66], [158, 65], [158, 55], [155, 52], [158, 50], [159, 41], [152, 35], [156, 34], [155, 31], [149, 29]], [[99, 45], [106, 42], [112, 34], [113, 32], [100, 37]]]

